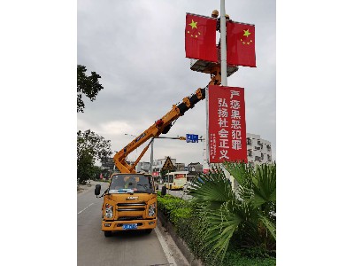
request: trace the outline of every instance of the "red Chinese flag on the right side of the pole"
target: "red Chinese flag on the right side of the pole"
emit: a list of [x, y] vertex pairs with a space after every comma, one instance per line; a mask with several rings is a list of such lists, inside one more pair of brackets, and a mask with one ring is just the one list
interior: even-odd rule
[[227, 21], [227, 64], [256, 66], [255, 27]]

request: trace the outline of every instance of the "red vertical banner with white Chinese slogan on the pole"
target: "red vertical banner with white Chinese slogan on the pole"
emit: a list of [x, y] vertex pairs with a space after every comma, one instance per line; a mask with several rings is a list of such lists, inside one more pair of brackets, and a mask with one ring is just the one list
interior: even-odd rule
[[247, 162], [244, 89], [211, 85], [208, 95], [209, 161]]

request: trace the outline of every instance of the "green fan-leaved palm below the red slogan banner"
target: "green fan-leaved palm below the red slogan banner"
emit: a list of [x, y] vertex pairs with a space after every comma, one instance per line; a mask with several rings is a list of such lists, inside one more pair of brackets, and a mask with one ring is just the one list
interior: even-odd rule
[[[235, 238], [242, 246], [275, 246], [276, 166], [252, 167], [241, 162], [225, 162], [223, 167], [234, 176], [235, 191], [220, 167], [198, 176], [190, 194], [195, 214], [203, 217], [201, 228], [204, 249], [222, 260]], [[273, 246], [272, 246], [273, 245]]]

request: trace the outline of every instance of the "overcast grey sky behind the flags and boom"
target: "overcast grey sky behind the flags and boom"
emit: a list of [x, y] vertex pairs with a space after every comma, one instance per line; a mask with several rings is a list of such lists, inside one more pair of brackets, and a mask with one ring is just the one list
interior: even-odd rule
[[[226, 0], [231, 20], [255, 24], [257, 67], [240, 66], [228, 86], [245, 89], [247, 132], [272, 143], [276, 158], [275, 1]], [[208, 74], [191, 71], [185, 58], [186, 12], [211, 16], [219, 1], [93, 1], [79, 0], [77, 64], [87, 74], [101, 75], [104, 86], [94, 102], [84, 98], [77, 129], [91, 129], [112, 141], [119, 151], [171, 110], [182, 98], [210, 81]], [[199, 102], [173, 125], [166, 137], [205, 136], [205, 101]], [[146, 143], [147, 144], [147, 143]], [[131, 153], [135, 160], [142, 151]], [[158, 139], [154, 160], [170, 156], [177, 162], [201, 162], [204, 144]], [[150, 149], [142, 157], [150, 161]]]

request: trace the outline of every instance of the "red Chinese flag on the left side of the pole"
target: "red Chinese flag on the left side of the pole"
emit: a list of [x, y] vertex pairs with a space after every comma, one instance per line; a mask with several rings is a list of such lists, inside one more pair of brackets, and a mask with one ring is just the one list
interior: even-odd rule
[[187, 13], [185, 31], [186, 58], [218, 62], [216, 50], [217, 20]]

